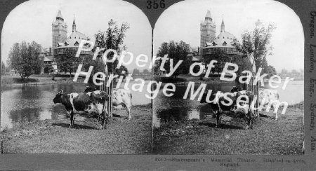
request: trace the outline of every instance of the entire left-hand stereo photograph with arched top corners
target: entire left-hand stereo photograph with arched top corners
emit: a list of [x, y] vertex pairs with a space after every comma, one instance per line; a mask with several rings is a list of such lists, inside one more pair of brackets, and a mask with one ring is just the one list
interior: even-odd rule
[[31, 0], [1, 32], [1, 153], [150, 153], [152, 28], [139, 8]]

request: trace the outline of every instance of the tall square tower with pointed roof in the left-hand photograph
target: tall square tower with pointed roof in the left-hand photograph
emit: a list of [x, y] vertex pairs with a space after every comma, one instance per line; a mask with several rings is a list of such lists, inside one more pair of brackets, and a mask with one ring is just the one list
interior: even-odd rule
[[51, 24], [53, 33], [53, 44], [52, 47], [58, 46], [59, 42], [64, 42], [67, 39], [67, 24], [62, 18], [61, 11], [58, 11], [55, 21]]

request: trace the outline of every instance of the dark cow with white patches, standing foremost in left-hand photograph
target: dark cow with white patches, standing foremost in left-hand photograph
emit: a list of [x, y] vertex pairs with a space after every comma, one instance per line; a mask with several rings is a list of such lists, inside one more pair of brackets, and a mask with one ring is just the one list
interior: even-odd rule
[[104, 91], [93, 91], [89, 93], [65, 94], [60, 90], [53, 99], [54, 104], [61, 103], [70, 115], [70, 126], [74, 126], [75, 115], [91, 118], [98, 115], [102, 119], [100, 129], [105, 129], [107, 124], [107, 100], [108, 95]]

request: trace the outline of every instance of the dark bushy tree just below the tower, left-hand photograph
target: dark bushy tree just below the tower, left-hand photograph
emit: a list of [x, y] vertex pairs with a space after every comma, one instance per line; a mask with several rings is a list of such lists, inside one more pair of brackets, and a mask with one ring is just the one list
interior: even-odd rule
[[78, 65], [83, 60], [82, 57], [76, 57], [76, 53], [77, 49], [66, 48], [65, 53], [55, 57], [60, 71], [64, 71], [65, 73], [69, 71], [70, 77], [72, 76], [72, 72], [77, 70]]

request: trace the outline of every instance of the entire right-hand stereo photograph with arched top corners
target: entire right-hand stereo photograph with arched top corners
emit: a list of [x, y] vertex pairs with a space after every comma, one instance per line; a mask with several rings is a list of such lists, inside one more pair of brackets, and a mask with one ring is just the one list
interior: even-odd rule
[[181, 1], [153, 37], [153, 153], [303, 155], [304, 34], [291, 8]]

